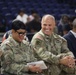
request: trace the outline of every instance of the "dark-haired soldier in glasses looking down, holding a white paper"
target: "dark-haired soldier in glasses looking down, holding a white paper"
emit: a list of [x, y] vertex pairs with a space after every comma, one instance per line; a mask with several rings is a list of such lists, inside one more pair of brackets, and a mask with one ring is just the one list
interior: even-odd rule
[[25, 32], [25, 25], [20, 21], [14, 21], [12, 35], [1, 44], [4, 75], [41, 74], [41, 69], [38, 66], [27, 65], [28, 62], [36, 61], [36, 58], [29, 43], [24, 40]]

